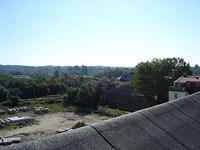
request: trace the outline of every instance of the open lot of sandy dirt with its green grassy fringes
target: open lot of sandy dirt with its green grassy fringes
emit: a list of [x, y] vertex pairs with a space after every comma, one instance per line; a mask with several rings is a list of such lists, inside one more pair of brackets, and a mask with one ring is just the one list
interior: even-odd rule
[[[11, 126], [1, 128], [0, 136], [4, 138], [20, 137], [21, 142], [25, 142], [71, 130], [78, 122], [84, 122], [86, 125], [89, 125], [128, 113], [103, 106], [99, 106], [96, 111], [84, 110], [77, 106], [64, 107], [61, 100], [60, 96], [22, 100], [20, 105], [31, 108], [30, 111], [18, 112], [16, 114], [5, 113], [0, 115], [0, 118], [28, 116], [34, 118], [34, 122], [28, 123], [25, 126], [12, 124]], [[47, 107], [49, 112], [35, 114], [33, 109], [36, 107]], [[1, 106], [1, 109], [6, 110], [8, 107]]]

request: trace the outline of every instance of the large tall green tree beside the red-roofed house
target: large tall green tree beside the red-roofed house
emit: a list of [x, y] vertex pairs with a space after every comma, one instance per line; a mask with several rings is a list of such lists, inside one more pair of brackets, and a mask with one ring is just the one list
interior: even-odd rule
[[153, 59], [136, 66], [134, 95], [143, 97], [148, 105], [168, 101], [168, 88], [183, 75], [191, 75], [190, 65], [182, 58]]

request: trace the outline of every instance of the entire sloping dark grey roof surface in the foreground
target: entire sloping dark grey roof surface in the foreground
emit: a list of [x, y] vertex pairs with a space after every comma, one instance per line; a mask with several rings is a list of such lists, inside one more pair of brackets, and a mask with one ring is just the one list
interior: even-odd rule
[[5, 150], [199, 150], [200, 92]]

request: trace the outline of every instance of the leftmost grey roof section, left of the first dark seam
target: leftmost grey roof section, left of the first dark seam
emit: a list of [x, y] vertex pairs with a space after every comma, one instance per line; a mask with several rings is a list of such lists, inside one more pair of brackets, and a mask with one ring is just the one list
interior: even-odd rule
[[1, 147], [2, 150], [113, 150], [91, 127], [83, 127], [37, 141]]

